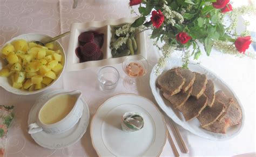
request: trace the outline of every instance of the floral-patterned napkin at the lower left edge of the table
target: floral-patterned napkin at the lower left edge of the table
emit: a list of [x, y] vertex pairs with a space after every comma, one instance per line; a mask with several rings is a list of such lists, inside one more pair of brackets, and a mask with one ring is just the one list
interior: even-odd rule
[[4, 156], [4, 148], [7, 142], [8, 128], [14, 119], [12, 110], [14, 106], [0, 105], [0, 157]]

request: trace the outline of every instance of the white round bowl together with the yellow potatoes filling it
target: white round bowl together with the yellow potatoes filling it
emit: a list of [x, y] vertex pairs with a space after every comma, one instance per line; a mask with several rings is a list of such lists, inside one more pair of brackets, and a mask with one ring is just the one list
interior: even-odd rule
[[5, 43], [0, 49], [0, 86], [21, 95], [39, 93], [52, 86], [65, 67], [64, 49], [57, 41], [45, 46], [34, 43], [50, 38], [30, 33]]

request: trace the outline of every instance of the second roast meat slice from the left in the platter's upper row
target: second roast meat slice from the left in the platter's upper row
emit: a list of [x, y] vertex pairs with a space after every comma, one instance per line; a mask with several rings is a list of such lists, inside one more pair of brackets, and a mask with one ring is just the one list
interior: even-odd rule
[[181, 87], [181, 90], [183, 92], [186, 92], [193, 85], [194, 79], [196, 78], [196, 74], [188, 69], [182, 69], [181, 67], [178, 67], [177, 71], [183, 78], [185, 78], [185, 83]]

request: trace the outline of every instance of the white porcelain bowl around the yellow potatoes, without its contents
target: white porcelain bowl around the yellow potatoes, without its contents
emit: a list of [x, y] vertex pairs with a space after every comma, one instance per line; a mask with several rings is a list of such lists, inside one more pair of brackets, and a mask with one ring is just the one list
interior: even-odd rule
[[[26, 40], [26, 42], [32, 42], [32, 41], [40, 41], [40, 42], [45, 42], [47, 40], [49, 40], [50, 36], [48, 35], [44, 35], [44, 34], [37, 34], [37, 33], [28, 33], [28, 34], [24, 34], [24, 35], [20, 35], [18, 37], [15, 37], [15, 38], [12, 38], [11, 40], [9, 40], [8, 42], [6, 42], [1, 48], [0, 50], [2, 50], [2, 48], [8, 44], [8, 43], [11, 43], [13, 42], [14, 40], [17, 40], [17, 39], [24, 39]], [[64, 69], [65, 69], [65, 65], [66, 65], [66, 56], [65, 56], [65, 51], [62, 47], [62, 45], [58, 42], [58, 41], [55, 41], [55, 46], [58, 47], [59, 50], [62, 51], [62, 56], [63, 56], [63, 69], [62, 71], [58, 74], [57, 78], [55, 80], [52, 81], [52, 83], [44, 88], [42, 88], [41, 90], [37, 90], [37, 91], [23, 91], [23, 90], [20, 90], [20, 89], [17, 89], [17, 88], [14, 88], [11, 86], [11, 84], [9, 83], [8, 81], [8, 78], [6, 77], [0, 77], [0, 86], [3, 87], [6, 91], [9, 91], [11, 93], [14, 93], [14, 94], [18, 94], [18, 95], [29, 95], [29, 94], [36, 94], [36, 93], [39, 93], [39, 92], [42, 92], [44, 90], [46, 90], [47, 88], [49, 88], [50, 86], [52, 86], [53, 84], [56, 83], [56, 81], [58, 81], [58, 79], [60, 78], [60, 76], [62, 75]], [[4, 62], [3, 60], [1, 60], [0, 62], [0, 69], [2, 69], [4, 65]]]

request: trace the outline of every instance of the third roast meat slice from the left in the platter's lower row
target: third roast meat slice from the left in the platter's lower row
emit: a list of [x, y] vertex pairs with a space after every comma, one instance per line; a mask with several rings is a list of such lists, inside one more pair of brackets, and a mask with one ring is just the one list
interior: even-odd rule
[[213, 124], [221, 114], [225, 111], [224, 103], [219, 100], [215, 100], [212, 107], [205, 107], [204, 110], [197, 117], [202, 127]]

